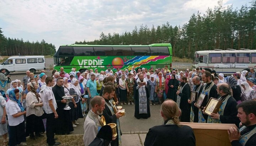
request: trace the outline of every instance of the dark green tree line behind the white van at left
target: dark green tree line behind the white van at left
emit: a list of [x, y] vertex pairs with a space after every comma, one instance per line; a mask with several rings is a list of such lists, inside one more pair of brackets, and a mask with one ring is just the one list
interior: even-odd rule
[[46, 43], [44, 40], [41, 42], [26, 42], [23, 39], [6, 38], [0, 28], [0, 55], [53, 55], [56, 50], [55, 46]]

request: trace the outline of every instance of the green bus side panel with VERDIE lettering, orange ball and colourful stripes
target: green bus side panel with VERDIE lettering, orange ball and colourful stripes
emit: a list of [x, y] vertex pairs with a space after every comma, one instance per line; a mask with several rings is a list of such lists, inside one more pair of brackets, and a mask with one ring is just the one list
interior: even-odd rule
[[140, 67], [141, 65], [166, 64], [170, 62], [170, 56], [75, 56], [70, 65], [77, 66], [77, 70], [94, 69], [128, 69]]

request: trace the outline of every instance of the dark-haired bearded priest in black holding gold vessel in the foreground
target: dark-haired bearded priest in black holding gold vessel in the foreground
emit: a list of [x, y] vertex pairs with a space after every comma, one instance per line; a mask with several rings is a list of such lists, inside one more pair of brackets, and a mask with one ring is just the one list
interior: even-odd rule
[[115, 123], [117, 124], [117, 137], [111, 141], [111, 146], [121, 146], [121, 129], [119, 118], [122, 117], [120, 112], [117, 112], [116, 104], [113, 101], [116, 88], [113, 85], [106, 85], [103, 90], [102, 97], [105, 99], [105, 109], [103, 110], [103, 116], [105, 117], [106, 124]]

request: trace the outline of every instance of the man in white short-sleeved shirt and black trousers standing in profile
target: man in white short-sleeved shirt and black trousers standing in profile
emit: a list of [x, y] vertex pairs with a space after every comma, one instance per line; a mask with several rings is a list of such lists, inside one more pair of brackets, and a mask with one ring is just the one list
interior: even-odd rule
[[55, 84], [53, 77], [46, 77], [46, 88], [43, 91], [43, 106], [46, 112], [46, 136], [49, 146], [57, 146], [60, 145], [60, 142], [55, 142], [54, 139], [54, 131], [56, 118], [58, 118], [58, 114], [56, 112], [57, 103], [55, 101], [55, 97], [52, 91], [52, 86]]

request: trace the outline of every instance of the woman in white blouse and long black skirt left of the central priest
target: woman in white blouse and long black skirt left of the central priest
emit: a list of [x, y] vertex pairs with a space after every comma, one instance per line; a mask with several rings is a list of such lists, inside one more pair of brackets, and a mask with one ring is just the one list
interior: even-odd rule
[[126, 75], [123, 74], [119, 79], [119, 97], [121, 105], [127, 104], [127, 88], [126, 88]]

